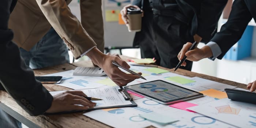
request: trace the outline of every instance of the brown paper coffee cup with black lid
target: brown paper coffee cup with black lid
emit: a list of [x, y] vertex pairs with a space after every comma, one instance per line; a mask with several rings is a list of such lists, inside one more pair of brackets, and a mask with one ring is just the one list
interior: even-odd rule
[[128, 18], [128, 30], [129, 32], [137, 32], [141, 30], [141, 19], [142, 12], [139, 8], [128, 8], [127, 9]]

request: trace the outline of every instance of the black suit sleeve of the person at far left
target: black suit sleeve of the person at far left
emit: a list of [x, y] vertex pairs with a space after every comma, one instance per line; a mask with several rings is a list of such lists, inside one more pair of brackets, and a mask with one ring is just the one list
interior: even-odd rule
[[52, 104], [52, 95], [35, 80], [34, 72], [20, 57], [19, 48], [11, 40], [8, 29], [12, 0], [0, 2], [0, 88], [4, 88], [15, 101], [32, 116], [43, 114]]

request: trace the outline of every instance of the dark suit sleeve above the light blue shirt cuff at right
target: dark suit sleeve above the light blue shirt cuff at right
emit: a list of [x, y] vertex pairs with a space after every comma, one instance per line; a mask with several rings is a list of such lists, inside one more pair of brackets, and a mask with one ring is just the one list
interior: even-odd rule
[[235, 0], [227, 23], [211, 39], [211, 41], [216, 42], [221, 48], [222, 53], [217, 57], [218, 59], [222, 59], [225, 53], [242, 37], [251, 19], [252, 15], [244, 0]]

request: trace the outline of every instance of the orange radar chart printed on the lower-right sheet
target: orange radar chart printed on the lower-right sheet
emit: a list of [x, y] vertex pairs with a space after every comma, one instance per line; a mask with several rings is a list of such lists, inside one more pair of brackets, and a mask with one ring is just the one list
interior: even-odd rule
[[231, 108], [229, 105], [215, 107], [218, 110], [218, 113], [223, 114], [236, 114], [238, 115], [241, 109]]

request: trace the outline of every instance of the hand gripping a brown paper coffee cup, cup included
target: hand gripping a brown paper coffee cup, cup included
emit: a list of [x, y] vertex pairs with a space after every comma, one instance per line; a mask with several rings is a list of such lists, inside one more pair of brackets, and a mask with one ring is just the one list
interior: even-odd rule
[[143, 11], [140, 10], [138, 6], [125, 6], [123, 10], [121, 10], [121, 15], [130, 32], [141, 30], [141, 19], [143, 17]]

